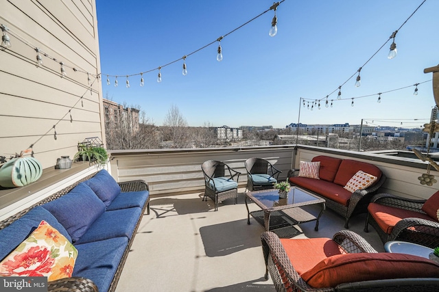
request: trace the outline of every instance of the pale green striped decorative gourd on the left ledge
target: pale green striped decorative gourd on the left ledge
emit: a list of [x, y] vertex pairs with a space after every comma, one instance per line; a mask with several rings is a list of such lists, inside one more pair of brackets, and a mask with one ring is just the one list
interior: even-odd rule
[[0, 168], [2, 187], [23, 187], [37, 181], [43, 174], [40, 162], [34, 157], [16, 157]]

